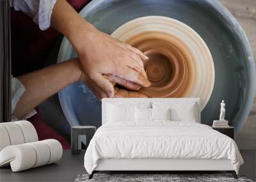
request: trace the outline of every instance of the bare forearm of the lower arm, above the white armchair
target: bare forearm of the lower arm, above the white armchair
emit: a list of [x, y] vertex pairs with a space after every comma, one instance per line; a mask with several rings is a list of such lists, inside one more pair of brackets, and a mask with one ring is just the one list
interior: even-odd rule
[[16, 118], [26, 116], [46, 98], [76, 82], [80, 77], [81, 68], [77, 59], [54, 64], [42, 70], [17, 77], [26, 91], [20, 97], [13, 115]]

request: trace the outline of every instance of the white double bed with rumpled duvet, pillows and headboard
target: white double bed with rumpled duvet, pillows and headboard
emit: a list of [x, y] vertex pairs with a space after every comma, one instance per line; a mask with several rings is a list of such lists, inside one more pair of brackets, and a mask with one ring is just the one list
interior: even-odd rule
[[237, 178], [242, 163], [234, 140], [200, 124], [199, 98], [102, 100], [102, 126], [84, 156], [84, 167], [92, 175], [96, 171], [230, 171]]

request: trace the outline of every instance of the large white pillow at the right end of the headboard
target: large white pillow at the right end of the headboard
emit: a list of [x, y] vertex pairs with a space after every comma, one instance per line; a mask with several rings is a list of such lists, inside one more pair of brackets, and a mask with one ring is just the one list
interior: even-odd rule
[[172, 121], [196, 122], [196, 107], [195, 104], [189, 107], [171, 109]]

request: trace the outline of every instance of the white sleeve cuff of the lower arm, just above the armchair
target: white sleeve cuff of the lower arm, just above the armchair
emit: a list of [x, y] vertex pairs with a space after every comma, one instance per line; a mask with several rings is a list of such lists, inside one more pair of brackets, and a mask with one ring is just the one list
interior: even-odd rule
[[[25, 90], [26, 89], [23, 86], [23, 84], [18, 79], [12, 77], [12, 113], [13, 113], [17, 103], [20, 100], [20, 96], [22, 96], [22, 94], [25, 92]], [[29, 112], [29, 114], [27, 114], [24, 118], [18, 119], [15, 116], [13, 116], [13, 114], [12, 114], [12, 121], [26, 120], [35, 114], [36, 114], [35, 109], [31, 110], [31, 112]]]

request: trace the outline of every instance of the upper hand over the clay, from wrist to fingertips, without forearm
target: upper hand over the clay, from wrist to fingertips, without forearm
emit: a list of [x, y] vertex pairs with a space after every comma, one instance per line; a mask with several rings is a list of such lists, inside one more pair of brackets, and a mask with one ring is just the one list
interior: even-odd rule
[[113, 97], [115, 91], [104, 75], [121, 85], [133, 82], [137, 86], [150, 86], [142, 61], [148, 58], [140, 50], [111, 38], [93, 26], [87, 27], [77, 44], [76, 50], [84, 72], [106, 96]]

